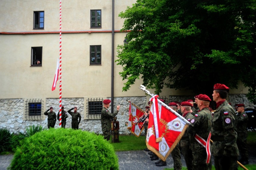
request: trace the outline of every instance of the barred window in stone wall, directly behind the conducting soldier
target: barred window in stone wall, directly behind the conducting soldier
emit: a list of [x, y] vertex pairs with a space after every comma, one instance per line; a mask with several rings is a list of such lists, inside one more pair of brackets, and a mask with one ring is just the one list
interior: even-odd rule
[[101, 110], [103, 98], [88, 98], [87, 99], [87, 112], [86, 116], [88, 119], [99, 119], [101, 115]]

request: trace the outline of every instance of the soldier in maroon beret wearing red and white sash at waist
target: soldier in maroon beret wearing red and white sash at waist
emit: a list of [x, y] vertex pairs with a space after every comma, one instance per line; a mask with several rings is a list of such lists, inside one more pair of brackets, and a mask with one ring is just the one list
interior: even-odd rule
[[197, 134], [207, 141], [211, 130], [212, 114], [208, 109], [211, 99], [205, 94], [199, 94], [197, 98], [197, 106], [200, 110], [198, 110], [194, 118], [190, 121], [191, 124], [187, 128], [188, 133], [191, 134], [190, 148], [193, 155], [193, 169], [212, 169], [211, 160], [209, 161], [209, 165], [206, 164], [206, 148], [194, 138], [195, 134]]

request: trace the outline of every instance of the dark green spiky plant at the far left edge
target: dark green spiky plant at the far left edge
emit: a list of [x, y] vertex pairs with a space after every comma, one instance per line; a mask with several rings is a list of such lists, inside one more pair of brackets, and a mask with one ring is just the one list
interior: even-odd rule
[[0, 153], [3, 151], [11, 151], [13, 133], [6, 128], [0, 129]]

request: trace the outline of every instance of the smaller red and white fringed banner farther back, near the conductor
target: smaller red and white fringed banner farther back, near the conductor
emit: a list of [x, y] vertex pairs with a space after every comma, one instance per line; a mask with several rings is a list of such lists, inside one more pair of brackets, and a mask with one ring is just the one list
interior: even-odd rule
[[131, 131], [132, 134], [139, 137], [144, 127], [142, 127], [144, 122], [137, 123], [139, 118], [144, 115], [144, 111], [138, 106], [130, 102], [129, 107], [129, 121], [127, 129]]

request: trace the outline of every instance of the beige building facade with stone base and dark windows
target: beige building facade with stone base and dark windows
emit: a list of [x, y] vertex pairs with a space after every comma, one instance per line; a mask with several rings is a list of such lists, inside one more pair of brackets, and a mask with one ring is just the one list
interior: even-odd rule
[[[112, 99], [113, 111], [117, 104], [123, 105], [117, 121], [120, 121], [120, 133], [128, 134], [126, 100], [145, 108], [149, 96], [138, 88], [142, 79], [129, 91], [122, 91], [125, 82], [119, 75], [122, 67], [112, 62], [113, 58], [117, 59], [117, 46], [123, 44], [126, 36], [126, 32], [120, 31], [124, 19], [118, 14], [136, 0], [112, 2], [61, 2], [62, 105], [65, 110], [78, 107], [82, 115], [80, 129], [101, 134], [102, 100]], [[23, 132], [33, 124], [47, 127], [47, 116], [43, 113], [50, 106], [56, 113], [59, 110], [59, 81], [56, 90], [51, 90], [60, 51], [59, 4], [58, 0], [1, 0], [0, 115], [3, 119], [0, 128]], [[241, 94], [241, 91], [247, 93], [242, 86], [231, 93]], [[188, 91], [172, 89], [163, 89], [160, 94], [167, 102], [171, 96], [184, 95], [193, 96]], [[67, 127], [71, 127], [70, 116]]]

